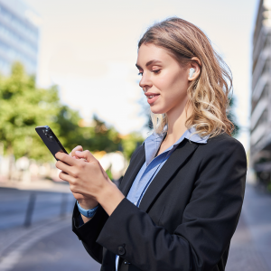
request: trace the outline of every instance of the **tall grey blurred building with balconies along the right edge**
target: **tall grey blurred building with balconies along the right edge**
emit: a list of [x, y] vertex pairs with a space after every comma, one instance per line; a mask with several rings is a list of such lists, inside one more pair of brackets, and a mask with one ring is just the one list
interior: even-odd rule
[[250, 161], [257, 179], [271, 173], [271, 0], [260, 0], [253, 37]]

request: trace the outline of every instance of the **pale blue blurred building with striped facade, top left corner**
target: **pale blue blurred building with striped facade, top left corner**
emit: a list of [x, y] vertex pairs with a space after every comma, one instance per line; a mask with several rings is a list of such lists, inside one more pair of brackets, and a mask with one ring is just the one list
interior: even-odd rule
[[29, 74], [36, 74], [41, 19], [21, 0], [0, 0], [0, 72], [10, 73], [21, 61]]

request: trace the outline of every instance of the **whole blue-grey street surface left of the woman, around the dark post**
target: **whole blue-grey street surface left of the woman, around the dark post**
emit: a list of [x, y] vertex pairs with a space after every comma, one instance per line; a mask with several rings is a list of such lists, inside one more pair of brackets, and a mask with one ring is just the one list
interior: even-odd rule
[[[24, 227], [33, 194], [31, 226]], [[0, 188], [0, 271], [99, 270], [71, 231], [74, 202], [67, 192]]]

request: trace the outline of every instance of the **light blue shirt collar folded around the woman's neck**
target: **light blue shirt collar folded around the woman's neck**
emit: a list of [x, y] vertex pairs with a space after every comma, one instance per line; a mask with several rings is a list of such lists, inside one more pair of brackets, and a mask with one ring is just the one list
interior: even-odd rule
[[[166, 131], [167, 126], [164, 126], [163, 132], [161, 134], [153, 133], [145, 139], [145, 162], [147, 165], [154, 159], [154, 155], [157, 153], [162, 141], [164, 140]], [[205, 135], [203, 137], [201, 137], [199, 134], [192, 135], [192, 133], [195, 131], [196, 129], [194, 126], [192, 126], [190, 129], [187, 129], [173, 145], [164, 151], [164, 153], [171, 151], [173, 147], [179, 145], [184, 138], [187, 138], [195, 143], [206, 144], [210, 135]]]

